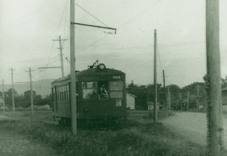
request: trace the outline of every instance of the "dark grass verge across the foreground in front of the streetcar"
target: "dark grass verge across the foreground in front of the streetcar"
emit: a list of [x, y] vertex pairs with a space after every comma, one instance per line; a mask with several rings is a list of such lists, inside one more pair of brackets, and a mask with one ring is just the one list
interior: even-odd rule
[[35, 120], [2, 120], [0, 127], [26, 135], [63, 156], [205, 156], [205, 147], [188, 142], [162, 124], [128, 121], [120, 130], [78, 130]]

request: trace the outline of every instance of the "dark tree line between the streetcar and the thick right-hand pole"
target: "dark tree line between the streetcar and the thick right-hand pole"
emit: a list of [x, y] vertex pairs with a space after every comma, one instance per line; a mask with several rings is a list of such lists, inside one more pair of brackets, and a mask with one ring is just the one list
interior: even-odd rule
[[[159, 107], [167, 107], [167, 90], [170, 92], [171, 109], [203, 111], [206, 105], [206, 85], [194, 82], [183, 88], [178, 85], [168, 85], [165, 88], [157, 84], [157, 100]], [[154, 102], [154, 85], [136, 85], [133, 81], [127, 86], [127, 93], [136, 96], [135, 109], [147, 110], [148, 103]]]

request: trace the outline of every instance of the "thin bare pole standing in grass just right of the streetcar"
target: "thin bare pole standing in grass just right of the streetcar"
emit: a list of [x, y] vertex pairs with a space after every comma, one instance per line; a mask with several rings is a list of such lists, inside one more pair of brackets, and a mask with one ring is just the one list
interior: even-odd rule
[[157, 33], [154, 30], [154, 124], [157, 122]]

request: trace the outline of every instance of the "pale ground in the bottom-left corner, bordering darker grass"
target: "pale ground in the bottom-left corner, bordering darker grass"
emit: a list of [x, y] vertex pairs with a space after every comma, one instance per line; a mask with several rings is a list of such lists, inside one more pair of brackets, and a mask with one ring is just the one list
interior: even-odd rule
[[[0, 120], [7, 117], [0, 115]], [[57, 156], [56, 152], [39, 142], [27, 139], [21, 134], [0, 127], [1, 156]]]

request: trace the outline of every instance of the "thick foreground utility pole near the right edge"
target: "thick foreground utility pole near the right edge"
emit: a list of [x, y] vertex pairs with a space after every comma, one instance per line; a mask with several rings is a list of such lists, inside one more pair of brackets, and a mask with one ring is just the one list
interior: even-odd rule
[[208, 150], [211, 156], [221, 156], [224, 151], [224, 143], [219, 47], [219, 0], [206, 0], [206, 57]]

